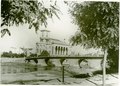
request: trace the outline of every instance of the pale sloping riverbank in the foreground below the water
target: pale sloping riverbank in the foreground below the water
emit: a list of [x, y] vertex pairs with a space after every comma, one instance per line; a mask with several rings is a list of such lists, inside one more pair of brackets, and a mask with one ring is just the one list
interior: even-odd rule
[[[117, 74], [106, 75], [106, 86], [119, 86]], [[9, 77], [9, 78], [8, 78]], [[102, 75], [89, 78], [73, 78], [65, 75], [65, 83], [62, 83], [61, 73], [48, 74], [40, 72], [3, 74], [2, 84], [14, 85], [79, 85], [79, 86], [102, 86]]]

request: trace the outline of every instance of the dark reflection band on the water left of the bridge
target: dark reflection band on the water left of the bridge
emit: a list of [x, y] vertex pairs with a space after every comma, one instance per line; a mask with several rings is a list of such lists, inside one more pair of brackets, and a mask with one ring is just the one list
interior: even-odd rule
[[38, 71], [38, 65], [31, 64], [16, 64], [16, 63], [4, 63], [1, 65], [2, 74], [15, 74], [15, 73], [27, 73]]

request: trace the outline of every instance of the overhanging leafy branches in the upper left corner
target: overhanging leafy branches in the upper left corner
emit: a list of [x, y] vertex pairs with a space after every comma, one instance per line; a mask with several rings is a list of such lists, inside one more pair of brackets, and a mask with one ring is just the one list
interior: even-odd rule
[[[45, 6], [44, 1], [37, 0], [1, 0], [1, 27], [20, 24], [29, 24], [37, 31], [40, 25], [47, 26], [47, 19], [52, 18], [60, 12], [56, 1], [50, 1], [49, 7]], [[59, 17], [58, 17], [59, 18]], [[10, 34], [8, 28], [1, 30], [1, 37], [6, 33]]]

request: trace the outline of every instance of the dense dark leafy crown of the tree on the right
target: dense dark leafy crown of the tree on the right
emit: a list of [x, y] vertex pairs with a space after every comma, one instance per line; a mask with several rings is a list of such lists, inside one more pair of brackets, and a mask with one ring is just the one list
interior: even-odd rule
[[[79, 30], [70, 40], [72, 44], [107, 50], [108, 62], [112, 64], [117, 61], [118, 70], [118, 53], [115, 52], [119, 51], [119, 3], [74, 3], [70, 13], [73, 22], [79, 26]], [[115, 56], [110, 56], [113, 51]], [[110, 61], [110, 58], [116, 59]]]

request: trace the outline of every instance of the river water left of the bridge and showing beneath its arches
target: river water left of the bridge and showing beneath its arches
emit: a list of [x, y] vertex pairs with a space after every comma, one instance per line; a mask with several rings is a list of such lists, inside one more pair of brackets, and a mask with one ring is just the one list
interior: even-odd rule
[[[60, 70], [61, 64], [58, 60], [52, 61], [56, 68]], [[68, 60], [65, 62], [67, 65], [74, 65], [75, 67], [71, 70], [80, 71], [77, 60]], [[96, 66], [97, 64], [97, 66]], [[86, 66], [86, 63], [82, 63], [83, 66]], [[96, 69], [100, 69], [100, 60], [92, 60], [89, 61], [89, 65]], [[24, 58], [1, 58], [1, 74], [16, 74], [16, 73], [28, 73], [28, 72], [36, 72], [40, 71], [41, 73], [45, 73], [46, 70], [51, 68], [47, 67], [44, 60], [39, 60], [39, 63], [36, 65], [33, 61], [30, 63], [25, 63]], [[84, 71], [83, 71], [84, 72]]]

